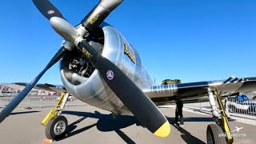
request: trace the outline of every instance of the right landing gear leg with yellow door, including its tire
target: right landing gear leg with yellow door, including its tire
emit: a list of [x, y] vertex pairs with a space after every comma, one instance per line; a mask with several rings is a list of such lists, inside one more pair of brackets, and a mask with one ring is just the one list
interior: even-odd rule
[[[216, 96], [218, 107], [214, 100]], [[221, 95], [218, 93], [216, 88], [208, 88], [208, 97], [210, 99], [210, 106], [212, 108], [212, 114], [216, 124], [210, 124], [207, 126], [206, 139], [207, 143], [214, 144], [231, 144], [234, 139], [230, 133], [230, 126], [227, 119], [226, 111], [222, 104]], [[220, 114], [219, 114], [219, 112]]]

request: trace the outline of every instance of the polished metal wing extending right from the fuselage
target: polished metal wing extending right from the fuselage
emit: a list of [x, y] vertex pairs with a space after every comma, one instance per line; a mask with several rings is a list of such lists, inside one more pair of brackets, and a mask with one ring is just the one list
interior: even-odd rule
[[215, 87], [223, 97], [256, 92], [256, 77], [234, 78], [208, 82], [189, 82], [172, 85], [151, 86], [143, 92], [156, 105], [164, 105], [179, 99], [184, 103], [207, 102], [207, 89]]

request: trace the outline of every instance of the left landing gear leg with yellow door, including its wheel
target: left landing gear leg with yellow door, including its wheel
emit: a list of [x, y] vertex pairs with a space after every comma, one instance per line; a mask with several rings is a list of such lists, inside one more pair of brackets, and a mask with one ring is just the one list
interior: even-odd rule
[[68, 123], [62, 111], [70, 94], [63, 90], [61, 97], [58, 99], [57, 105], [43, 118], [41, 124], [46, 126], [46, 138], [54, 140], [56, 137], [65, 134]]

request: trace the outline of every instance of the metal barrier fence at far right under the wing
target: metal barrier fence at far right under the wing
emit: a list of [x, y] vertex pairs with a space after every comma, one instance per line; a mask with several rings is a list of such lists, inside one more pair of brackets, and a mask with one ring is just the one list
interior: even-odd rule
[[256, 115], [256, 100], [228, 98], [226, 108], [228, 108], [230, 113]]

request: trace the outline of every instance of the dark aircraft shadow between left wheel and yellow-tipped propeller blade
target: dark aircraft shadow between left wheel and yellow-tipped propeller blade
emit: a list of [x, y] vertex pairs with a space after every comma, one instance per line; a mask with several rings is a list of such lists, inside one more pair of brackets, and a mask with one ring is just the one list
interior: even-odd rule
[[[129, 138], [126, 134], [122, 132], [122, 128], [127, 126], [131, 126], [133, 124], [139, 125], [139, 122], [134, 118], [134, 116], [127, 116], [127, 115], [116, 115], [115, 119], [112, 118], [111, 114], [101, 114], [98, 111], [94, 113], [88, 112], [81, 112], [81, 111], [63, 111], [62, 114], [71, 114], [82, 116], [82, 118], [78, 119], [76, 122], [71, 123], [68, 126], [67, 133], [59, 138], [56, 138], [56, 141], [61, 141], [65, 138], [69, 138], [75, 134], [82, 133], [83, 131], [89, 130], [91, 127], [96, 126], [100, 131], [115, 131], [126, 143], [135, 143], [131, 138]], [[76, 129], [76, 124], [82, 122], [86, 118], [97, 118], [98, 122], [94, 123], [90, 126], [83, 127], [79, 130]]]

